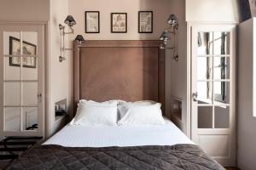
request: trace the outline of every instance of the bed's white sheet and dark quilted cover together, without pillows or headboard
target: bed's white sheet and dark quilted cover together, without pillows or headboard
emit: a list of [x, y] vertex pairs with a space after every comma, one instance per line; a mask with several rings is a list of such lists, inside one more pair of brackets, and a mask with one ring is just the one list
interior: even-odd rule
[[67, 124], [9, 169], [224, 169], [165, 121], [139, 127]]

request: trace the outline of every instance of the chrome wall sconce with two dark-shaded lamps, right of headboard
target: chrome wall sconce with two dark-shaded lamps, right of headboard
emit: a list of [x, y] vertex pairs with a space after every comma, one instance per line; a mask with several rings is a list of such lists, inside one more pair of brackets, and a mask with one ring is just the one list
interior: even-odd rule
[[[160, 35], [160, 48], [162, 49], [172, 49], [172, 59], [178, 61], [177, 55], [177, 29], [178, 29], [178, 20], [175, 14], [171, 14], [167, 20], [167, 23], [170, 25], [166, 31]], [[171, 39], [171, 35], [173, 35], [173, 47], [167, 47], [167, 41]]]

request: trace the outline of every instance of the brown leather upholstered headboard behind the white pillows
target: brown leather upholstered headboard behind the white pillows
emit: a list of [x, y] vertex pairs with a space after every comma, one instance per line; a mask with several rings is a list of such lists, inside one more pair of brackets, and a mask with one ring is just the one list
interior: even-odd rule
[[150, 99], [164, 107], [165, 53], [159, 47], [160, 41], [73, 42], [74, 110], [79, 99]]

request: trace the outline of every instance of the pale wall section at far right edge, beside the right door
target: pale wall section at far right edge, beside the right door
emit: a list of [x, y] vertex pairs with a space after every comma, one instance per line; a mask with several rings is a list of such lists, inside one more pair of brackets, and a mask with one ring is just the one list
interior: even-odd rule
[[[256, 19], [247, 20], [239, 26], [238, 56], [238, 167], [256, 169], [256, 117], [253, 117], [253, 67], [255, 67]], [[253, 65], [254, 63], [254, 65]], [[255, 88], [255, 87], [254, 87]], [[254, 89], [255, 90], [255, 89]]]

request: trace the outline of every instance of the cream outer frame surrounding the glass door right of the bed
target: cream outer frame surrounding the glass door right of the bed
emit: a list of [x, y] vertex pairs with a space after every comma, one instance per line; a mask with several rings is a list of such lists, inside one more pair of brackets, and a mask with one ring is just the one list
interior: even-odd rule
[[[195, 118], [192, 113], [193, 113], [193, 99], [192, 99], [192, 93], [193, 93], [193, 84], [192, 84], [192, 77], [193, 77], [193, 39], [195, 37], [193, 37], [193, 30], [198, 26], [212, 26], [212, 27], [233, 27], [233, 31], [232, 32], [232, 57], [233, 57], [233, 63], [232, 65], [230, 65], [230, 71], [232, 71], [232, 74], [230, 76], [230, 103], [232, 103], [232, 105], [230, 107], [232, 107], [232, 111], [230, 111], [231, 113], [231, 118], [230, 118], [230, 129], [232, 131], [231, 135], [231, 141], [230, 144], [232, 144], [233, 148], [231, 150], [234, 150], [235, 152], [235, 162], [230, 162], [229, 165], [236, 165], [236, 114], [235, 114], [235, 110], [236, 110], [236, 47], [237, 47], [237, 41], [236, 41], [236, 27], [237, 27], [238, 23], [237, 22], [187, 22], [187, 108], [188, 108], [188, 113], [187, 113], [187, 132], [188, 136], [190, 139], [192, 139], [192, 130], [193, 130], [193, 118]], [[195, 76], [194, 76], [195, 77]], [[197, 117], [196, 117], [197, 118]], [[234, 140], [233, 140], [234, 139]], [[222, 163], [222, 162], [220, 162]]]

